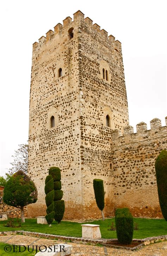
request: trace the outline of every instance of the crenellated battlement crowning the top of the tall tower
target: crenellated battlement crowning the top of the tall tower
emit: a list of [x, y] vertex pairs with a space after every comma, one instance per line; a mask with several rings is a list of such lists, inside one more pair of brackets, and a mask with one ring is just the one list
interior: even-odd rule
[[79, 28], [80, 22], [85, 23], [89, 28], [95, 29], [97, 32], [99, 32], [100, 36], [102, 36], [105, 40], [109, 40], [109, 42], [111, 42], [113, 48], [117, 52], [121, 52], [121, 43], [118, 40], [115, 40], [115, 37], [113, 35], [108, 36], [108, 32], [104, 29], [101, 29], [97, 23], [93, 24], [92, 19], [90, 19], [89, 17], [84, 18], [84, 14], [80, 10], [73, 14], [73, 20], [71, 17], [68, 16], [63, 20], [63, 25], [61, 23], [58, 23], [54, 27], [54, 31], [50, 29], [46, 33], [46, 36], [41, 36], [38, 42], [33, 43], [33, 51], [37, 51], [42, 47], [43, 44], [46, 44], [48, 41], [55, 38], [56, 36], [68, 36], [68, 30], [72, 27], [74, 28], [74, 30], [77, 27]]

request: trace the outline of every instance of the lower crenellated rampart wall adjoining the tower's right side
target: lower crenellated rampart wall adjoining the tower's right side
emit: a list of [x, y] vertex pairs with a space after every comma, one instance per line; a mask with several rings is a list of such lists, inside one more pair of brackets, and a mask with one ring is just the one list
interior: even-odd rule
[[[167, 121], [167, 118], [166, 118]], [[124, 135], [112, 135], [111, 191], [115, 208], [129, 207], [134, 216], [162, 217], [155, 176], [155, 160], [167, 149], [167, 126], [161, 120], [150, 121], [151, 129], [139, 123], [137, 133], [124, 127]]]

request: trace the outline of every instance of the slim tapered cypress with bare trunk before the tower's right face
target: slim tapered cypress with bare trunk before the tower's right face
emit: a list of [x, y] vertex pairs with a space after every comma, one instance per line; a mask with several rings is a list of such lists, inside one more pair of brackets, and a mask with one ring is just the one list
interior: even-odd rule
[[103, 180], [100, 179], [94, 179], [93, 180], [93, 188], [94, 188], [94, 195], [96, 199], [97, 206], [101, 210], [101, 215], [104, 221], [104, 214], [103, 214], [103, 209], [104, 209], [104, 185], [103, 185]]

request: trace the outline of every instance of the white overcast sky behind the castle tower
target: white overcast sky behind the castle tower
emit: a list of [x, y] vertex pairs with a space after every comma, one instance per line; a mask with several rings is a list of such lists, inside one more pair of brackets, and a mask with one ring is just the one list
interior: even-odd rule
[[122, 42], [130, 125], [167, 115], [166, 0], [5, 0], [0, 4], [1, 174], [26, 143], [32, 44], [81, 10]]

